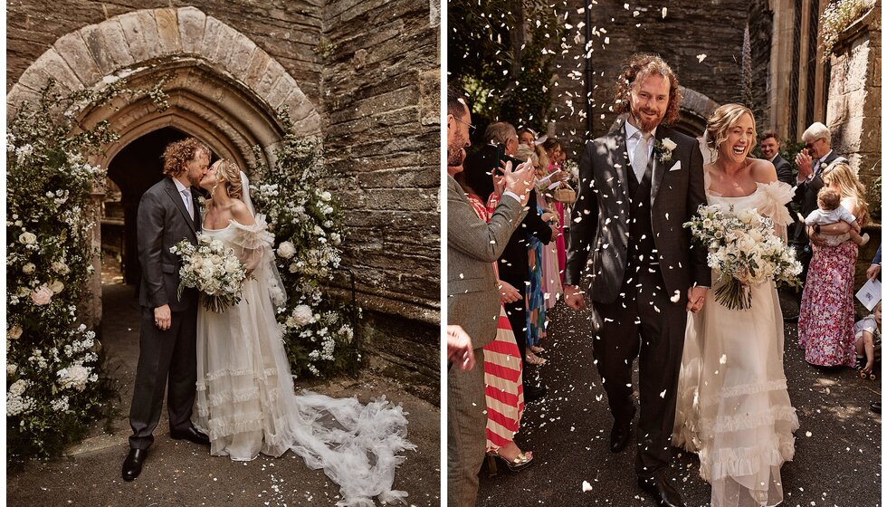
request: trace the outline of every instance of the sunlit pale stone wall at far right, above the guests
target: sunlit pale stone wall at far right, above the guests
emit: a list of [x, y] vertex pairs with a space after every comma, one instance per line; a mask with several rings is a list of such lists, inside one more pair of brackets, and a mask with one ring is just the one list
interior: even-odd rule
[[[844, 32], [831, 60], [826, 118], [832, 147], [850, 160], [866, 187], [882, 167], [881, 51], [881, 13], [875, 8]], [[880, 209], [880, 196], [869, 198]]]

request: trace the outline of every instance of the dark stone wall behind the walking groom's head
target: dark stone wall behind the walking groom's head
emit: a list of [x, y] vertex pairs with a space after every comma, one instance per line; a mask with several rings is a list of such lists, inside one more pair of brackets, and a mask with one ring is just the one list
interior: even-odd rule
[[[572, 152], [581, 149], [586, 138], [586, 120], [580, 111], [585, 110], [586, 101], [587, 4], [581, 0], [558, 4], [560, 18], [566, 16], [564, 23], [572, 28], [567, 30], [568, 48], [556, 62], [555, 105], [549, 115], [556, 120], [553, 133], [566, 143], [567, 156], [576, 159], [578, 155]], [[659, 53], [677, 73], [682, 86], [720, 104], [741, 100], [742, 39], [749, 3], [723, 0], [717, 4], [656, 1], [628, 4], [629, 9], [625, 9], [624, 2], [592, 5], [590, 26], [596, 32], [591, 36], [594, 51], [590, 53], [594, 70], [592, 137], [605, 134], [615, 120], [610, 110], [615, 76], [633, 53]], [[664, 18], [663, 7], [667, 7]], [[703, 53], [706, 57], [700, 62], [697, 55]]]

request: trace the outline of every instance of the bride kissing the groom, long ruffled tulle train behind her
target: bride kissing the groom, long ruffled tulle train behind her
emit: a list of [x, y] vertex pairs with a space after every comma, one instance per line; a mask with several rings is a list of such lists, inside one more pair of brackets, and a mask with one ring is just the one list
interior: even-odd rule
[[361, 405], [356, 398], [310, 392], [295, 396], [275, 306], [285, 301], [274, 267], [273, 235], [255, 215], [246, 175], [219, 160], [200, 181], [209, 191], [204, 234], [234, 249], [247, 268], [243, 299], [222, 313], [197, 315], [197, 396], [193, 422], [209, 435], [210, 454], [247, 461], [259, 453], [299, 454], [339, 483], [337, 505], [404, 502], [392, 491], [397, 454], [415, 449], [406, 440], [402, 407], [385, 398]]

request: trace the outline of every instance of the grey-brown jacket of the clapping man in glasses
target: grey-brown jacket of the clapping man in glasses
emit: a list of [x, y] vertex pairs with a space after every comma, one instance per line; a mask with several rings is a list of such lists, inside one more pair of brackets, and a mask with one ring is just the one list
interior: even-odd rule
[[493, 263], [527, 210], [503, 196], [490, 218], [474, 213], [465, 191], [447, 176], [447, 323], [458, 324], [480, 349], [496, 338], [501, 302]]

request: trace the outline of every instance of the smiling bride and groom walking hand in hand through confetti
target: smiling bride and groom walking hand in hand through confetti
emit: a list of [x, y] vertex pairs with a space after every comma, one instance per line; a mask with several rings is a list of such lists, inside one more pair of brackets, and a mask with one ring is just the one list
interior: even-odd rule
[[[682, 225], [700, 205], [755, 208], [784, 233], [791, 187], [756, 143], [751, 111], [714, 112], [700, 143], [667, 124], [681, 100], [672, 69], [637, 54], [616, 78], [615, 109], [627, 113], [588, 142], [570, 228], [565, 298], [596, 312], [598, 373], [614, 418], [610, 450], [631, 441], [632, 365], [639, 359], [640, 416], [635, 473], [657, 505], [683, 505], [665, 476], [670, 446], [700, 456], [711, 505], [776, 505], [779, 469], [794, 455], [795, 409], [782, 366], [783, 328], [776, 287], [749, 287], [750, 310], [714, 301], [706, 248]], [[631, 337], [631, 339], [629, 339]]]

